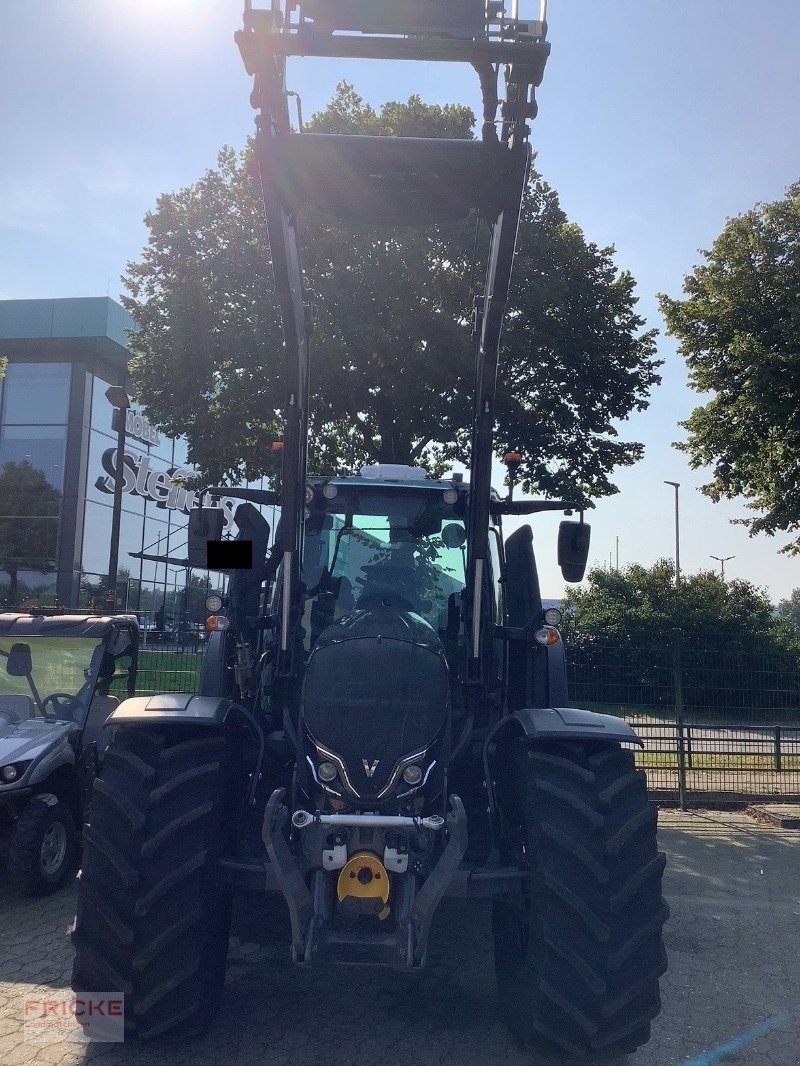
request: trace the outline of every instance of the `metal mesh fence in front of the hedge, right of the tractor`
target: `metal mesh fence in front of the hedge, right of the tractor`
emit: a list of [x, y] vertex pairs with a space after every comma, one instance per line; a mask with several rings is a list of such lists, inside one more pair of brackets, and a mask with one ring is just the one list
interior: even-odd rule
[[800, 656], [768, 634], [567, 644], [571, 702], [624, 717], [658, 798], [800, 797]]

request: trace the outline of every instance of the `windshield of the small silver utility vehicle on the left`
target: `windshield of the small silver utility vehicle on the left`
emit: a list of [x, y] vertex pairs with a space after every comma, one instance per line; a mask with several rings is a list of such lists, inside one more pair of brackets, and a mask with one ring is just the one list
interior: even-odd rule
[[82, 725], [101, 660], [96, 637], [1, 637], [0, 712]]

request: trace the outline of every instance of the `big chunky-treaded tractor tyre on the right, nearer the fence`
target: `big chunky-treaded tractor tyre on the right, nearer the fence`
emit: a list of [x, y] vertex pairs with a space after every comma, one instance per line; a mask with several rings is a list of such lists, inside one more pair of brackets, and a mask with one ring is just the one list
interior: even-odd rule
[[495, 904], [500, 1012], [531, 1050], [583, 1059], [650, 1038], [667, 969], [656, 809], [618, 745], [515, 741], [500, 786], [509, 857], [529, 870]]

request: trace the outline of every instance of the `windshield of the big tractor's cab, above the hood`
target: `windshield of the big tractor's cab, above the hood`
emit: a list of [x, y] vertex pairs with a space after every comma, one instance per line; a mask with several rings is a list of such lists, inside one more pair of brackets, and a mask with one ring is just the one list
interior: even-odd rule
[[454, 510], [432, 490], [348, 488], [315, 503], [303, 559], [306, 651], [343, 615], [380, 607], [444, 632], [466, 569], [464, 519]]

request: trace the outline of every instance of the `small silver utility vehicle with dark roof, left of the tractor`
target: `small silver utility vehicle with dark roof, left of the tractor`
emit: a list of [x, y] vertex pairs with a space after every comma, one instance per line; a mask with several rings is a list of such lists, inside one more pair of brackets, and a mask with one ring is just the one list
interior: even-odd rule
[[0, 854], [25, 895], [75, 872], [83, 817], [125, 677], [132, 695], [139, 630], [126, 615], [0, 614]]

